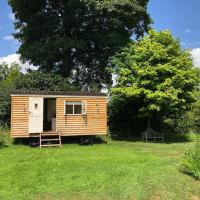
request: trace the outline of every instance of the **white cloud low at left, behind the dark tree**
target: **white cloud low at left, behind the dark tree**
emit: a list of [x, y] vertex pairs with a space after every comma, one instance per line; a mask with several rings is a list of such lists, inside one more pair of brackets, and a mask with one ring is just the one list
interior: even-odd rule
[[17, 63], [17, 64], [20, 65], [21, 71], [23, 73], [25, 73], [27, 71], [27, 69], [37, 69], [37, 67], [30, 65], [28, 62], [23, 64], [19, 60], [19, 57], [20, 57], [19, 54], [11, 54], [11, 55], [8, 55], [8, 56], [5, 56], [5, 57], [0, 57], [0, 64], [6, 63], [10, 67], [12, 63]]

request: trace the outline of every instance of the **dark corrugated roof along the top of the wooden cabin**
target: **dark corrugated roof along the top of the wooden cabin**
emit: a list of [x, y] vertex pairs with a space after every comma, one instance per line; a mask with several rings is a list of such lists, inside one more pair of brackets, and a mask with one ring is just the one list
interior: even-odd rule
[[49, 90], [15, 90], [11, 95], [63, 95], [63, 96], [106, 96], [100, 92], [83, 92], [83, 91], [49, 91]]

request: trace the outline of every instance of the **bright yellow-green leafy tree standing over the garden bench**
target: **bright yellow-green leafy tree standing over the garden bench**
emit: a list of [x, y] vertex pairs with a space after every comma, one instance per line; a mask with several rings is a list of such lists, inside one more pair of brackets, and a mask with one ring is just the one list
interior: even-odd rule
[[[139, 106], [139, 116], [174, 115], [189, 109], [199, 87], [199, 70], [189, 52], [169, 31], [149, 31], [113, 58], [117, 85], [112, 97], [130, 97]], [[130, 108], [131, 109], [131, 108]]]

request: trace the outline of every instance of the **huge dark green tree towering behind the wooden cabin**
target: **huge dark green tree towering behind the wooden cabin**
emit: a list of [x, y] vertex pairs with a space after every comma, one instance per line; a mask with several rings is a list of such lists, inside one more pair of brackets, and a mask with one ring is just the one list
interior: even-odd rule
[[[151, 23], [148, 0], [9, 0], [18, 53], [87, 87], [111, 82], [110, 56]], [[88, 84], [89, 83], [89, 84]]]

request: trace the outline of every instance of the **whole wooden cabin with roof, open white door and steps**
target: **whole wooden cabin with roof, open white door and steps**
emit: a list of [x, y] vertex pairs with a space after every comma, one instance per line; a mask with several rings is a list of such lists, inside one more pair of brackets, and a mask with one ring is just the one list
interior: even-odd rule
[[62, 136], [106, 134], [105, 94], [27, 90], [11, 94], [12, 138], [40, 137], [42, 146], [56, 139], [61, 145]]

